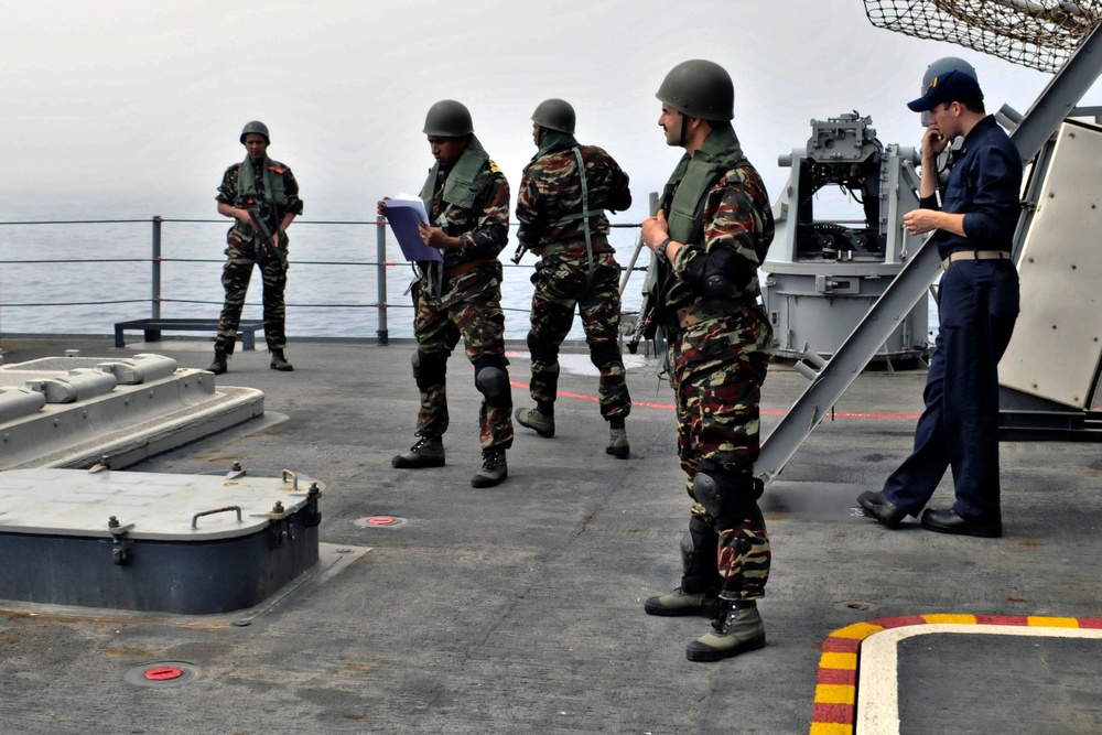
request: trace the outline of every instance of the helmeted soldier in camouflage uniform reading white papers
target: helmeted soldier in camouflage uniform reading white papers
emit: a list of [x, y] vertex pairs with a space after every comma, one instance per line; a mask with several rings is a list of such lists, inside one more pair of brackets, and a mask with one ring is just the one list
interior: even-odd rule
[[[440, 467], [447, 431], [444, 375], [458, 344], [474, 365], [483, 394], [478, 411], [482, 468], [474, 487], [491, 487], [509, 475], [505, 451], [512, 446], [512, 391], [505, 357], [501, 261], [508, 241], [509, 183], [474, 134], [471, 112], [445, 99], [429, 109], [424, 133], [435, 165], [421, 190], [429, 225], [421, 239], [442, 251], [442, 261], [419, 261], [413, 283], [413, 378], [421, 392], [420, 440], [397, 455], [395, 467]], [[387, 201], [379, 202], [386, 216]]]

